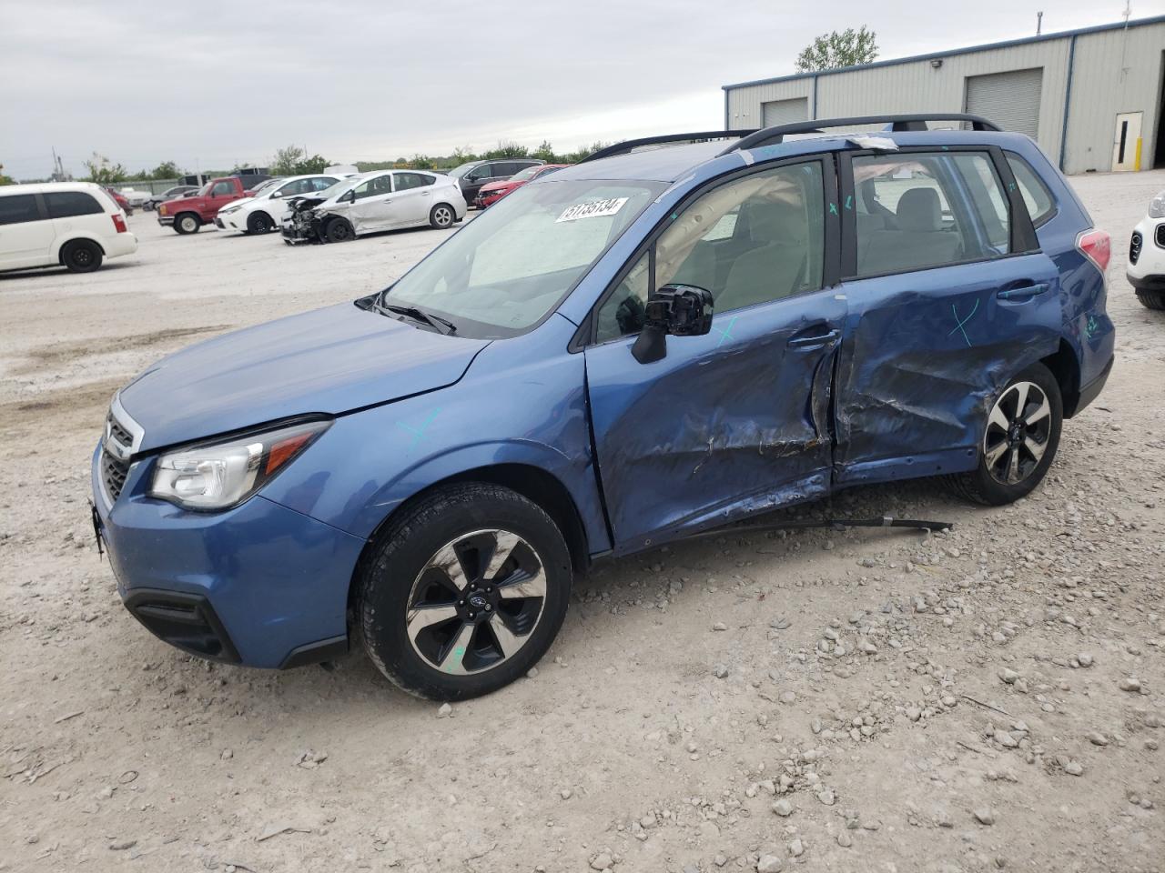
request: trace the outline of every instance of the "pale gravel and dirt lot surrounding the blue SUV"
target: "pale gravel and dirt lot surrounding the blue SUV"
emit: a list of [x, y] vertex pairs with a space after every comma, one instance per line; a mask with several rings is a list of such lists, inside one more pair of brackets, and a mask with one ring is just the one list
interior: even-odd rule
[[289, 249], [146, 213], [91, 277], [0, 278], [0, 870], [1165, 870], [1165, 313], [1124, 281], [1165, 172], [1074, 184], [1114, 236], [1117, 364], [1032, 497], [867, 488], [828, 510], [956, 527], [607, 563], [537, 675], [449, 717], [359, 654], [158, 643], [86, 505], [134, 372], [379, 289], [442, 233]]

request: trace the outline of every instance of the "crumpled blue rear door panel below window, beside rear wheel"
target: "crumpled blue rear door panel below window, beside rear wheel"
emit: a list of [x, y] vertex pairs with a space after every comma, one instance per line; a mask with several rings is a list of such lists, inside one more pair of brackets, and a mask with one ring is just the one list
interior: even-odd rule
[[[1017, 283], [1048, 283], [1016, 301]], [[835, 386], [839, 483], [973, 469], [1016, 374], [1059, 347], [1059, 275], [1045, 255], [846, 283]]]

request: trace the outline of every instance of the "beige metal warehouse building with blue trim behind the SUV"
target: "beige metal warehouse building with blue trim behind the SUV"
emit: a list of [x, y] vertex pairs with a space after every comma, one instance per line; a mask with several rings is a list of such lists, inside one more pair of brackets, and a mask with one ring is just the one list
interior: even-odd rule
[[1165, 166], [1165, 15], [723, 91], [729, 129], [969, 112], [1028, 134], [1068, 173]]

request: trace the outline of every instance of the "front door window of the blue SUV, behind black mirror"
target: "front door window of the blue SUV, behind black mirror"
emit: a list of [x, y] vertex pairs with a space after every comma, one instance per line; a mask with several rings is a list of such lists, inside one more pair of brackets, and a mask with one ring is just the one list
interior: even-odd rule
[[818, 162], [728, 182], [686, 206], [600, 307], [598, 340], [637, 332], [650, 289], [694, 285], [716, 312], [821, 288], [824, 180]]

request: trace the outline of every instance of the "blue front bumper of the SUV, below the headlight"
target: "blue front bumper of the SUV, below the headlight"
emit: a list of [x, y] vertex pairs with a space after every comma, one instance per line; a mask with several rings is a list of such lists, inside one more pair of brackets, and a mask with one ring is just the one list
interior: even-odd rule
[[130, 464], [112, 506], [93, 454], [96, 526], [126, 608], [202, 658], [282, 668], [347, 648], [347, 597], [363, 540], [254, 496], [189, 512], [144, 496], [153, 459]]

